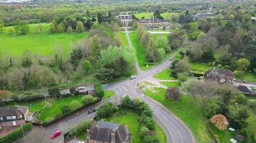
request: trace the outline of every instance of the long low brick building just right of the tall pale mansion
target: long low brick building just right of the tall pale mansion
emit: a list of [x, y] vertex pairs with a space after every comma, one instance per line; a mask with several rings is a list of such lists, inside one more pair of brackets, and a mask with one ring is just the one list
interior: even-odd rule
[[148, 28], [160, 28], [170, 26], [170, 22], [164, 19], [150, 18], [150, 19], [140, 19], [139, 24]]

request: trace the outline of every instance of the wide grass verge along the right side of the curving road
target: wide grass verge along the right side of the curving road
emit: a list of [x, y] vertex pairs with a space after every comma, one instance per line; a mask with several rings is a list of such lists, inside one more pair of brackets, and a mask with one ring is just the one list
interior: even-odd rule
[[173, 114], [188, 124], [198, 142], [211, 140], [209, 134], [207, 134], [204, 107], [200, 98], [197, 98], [195, 101], [192, 97], [183, 95], [178, 102], [175, 102], [171, 99], [165, 99], [165, 89], [155, 88], [154, 91], [152, 90], [145, 90], [145, 94], [163, 104]]

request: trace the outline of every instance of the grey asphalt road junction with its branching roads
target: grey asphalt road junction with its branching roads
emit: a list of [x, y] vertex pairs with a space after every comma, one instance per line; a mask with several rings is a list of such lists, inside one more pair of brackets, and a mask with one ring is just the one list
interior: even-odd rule
[[[132, 48], [132, 42], [129, 39], [129, 32], [126, 31], [126, 34], [129, 46]], [[120, 82], [115, 82], [109, 84], [108, 87], [105, 87], [104, 89], [116, 92], [115, 96], [109, 99], [109, 101], [111, 102], [119, 102], [122, 99], [122, 97], [129, 95], [129, 97], [131, 98], [140, 98], [142, 101], [149, 104], [150, 109], [152, 109], [153, 112], [153, 118], [155, 119], [155, 122], [157, 122], [157, 124], [159, 124], [160, 127], [164, 130], [167, 136], [168, 143], [196, 143], [196, 137], [193, 135], [193, 132], [191, 132], [191, 129], [189, 129], [186, 124], [184, 124], [180, 119], [178, 119], [178, 117], [176, 117], [168, 109], [163, 107], [162, 104], [156, 102], [153, 99], [150, 99], [149, 97], [145, 97], [142, 91], [140, 91], [140, 89], [138, 89], [137, 87], [137, 84], [140, 82], [154, 81], [152, 80], [154, 79], [153, 75], [157, 74], [160, 71], [163, 71], [164, 69], [167, 69], [169, 66], [170, 61], [166, 60], [163, 61], [161, 64], [158, 64], [157, 66], [153, 67], [152, 69], [142, 71], [142, 69], [140, 69], [139, 64], [136, 62], [136, 79], [126, 79]], [[67, 132], [68, 128], [75, 126], [76, 124], [78, 124], [78, 122], [81, 122], [84, 119], [93, 119], [95, 113], [87, 114], [88, 109], [98, 108], [104, 102], [107, 101], [103, 100], [101, 103], [94, 104], [93, 106], [83, 109], [82, 111], [76, 114], [70, 115], [70, 117], [63, 119], [56, 124], [50, 125], [49, 127], [45, 128], [45, 134], [48, 137], [50, 134], [52, 134], [52, 132], [54, 132], [57, 129], [60, 129], [62, 132]], [[52, 142], [62, 141], [63, 136], [57, 137], [54, 140], [52, 140]]]

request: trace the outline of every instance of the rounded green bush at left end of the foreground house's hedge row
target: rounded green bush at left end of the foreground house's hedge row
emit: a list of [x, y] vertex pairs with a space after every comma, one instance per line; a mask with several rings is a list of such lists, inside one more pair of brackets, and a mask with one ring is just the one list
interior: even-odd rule
[[99, 109], [97, 109], [96, 117], [98, 119], [106, 118], [111, 116], [111, 114], [113, 114], [117, 110], [118, 107], [116, 107], [116, 105], [112, 104], [111, 102], [108, 102], [99, 107]]

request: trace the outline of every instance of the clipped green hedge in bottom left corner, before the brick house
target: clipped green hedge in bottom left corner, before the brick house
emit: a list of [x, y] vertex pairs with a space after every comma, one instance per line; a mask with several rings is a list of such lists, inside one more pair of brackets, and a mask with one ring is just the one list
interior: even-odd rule
[[21, 139], [23, 137], [22, 128], [23, 128], [24, 134], [26, 134], [27, 132], [29, 132], [32, 129], [32, 124], [30, 124], [30, 123], [24, 124], [22, 127], [19, 127], [19, 129], [15, 130], [14, 132], [10, 132], [9, 134], [6, 134], [5, 136], [0, 137], [0, 142], [1, 143], [15, 142], [18, 139]]

